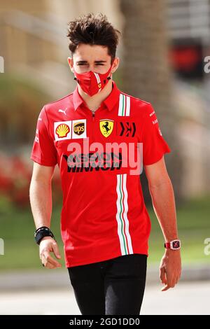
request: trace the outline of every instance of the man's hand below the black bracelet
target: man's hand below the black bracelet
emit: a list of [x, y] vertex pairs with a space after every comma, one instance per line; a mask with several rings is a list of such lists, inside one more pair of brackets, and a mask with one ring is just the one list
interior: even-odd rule
[[57, 246], [57, 242], [52, 239], [52, 237], [43, 237], [41, 239], [41, 242], [39, 244], [39, 256], [41, 259], [41, 262], [45, 267], [48, 267], [49, 269], [54, 269], [56, 267], [62, 267], [62, 265], [57, 262], [52, 256], [50, 256], [50, 253], [54, 253], [55, 257], [60, 259], [61, 255], [59, 254], [59, 248]]

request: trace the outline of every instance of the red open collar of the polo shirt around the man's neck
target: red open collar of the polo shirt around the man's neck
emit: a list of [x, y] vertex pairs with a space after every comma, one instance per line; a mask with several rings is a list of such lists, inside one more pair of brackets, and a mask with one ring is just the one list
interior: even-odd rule
[[[113, 109], [113, 107], [116, 105], [116, 102], [118, 101], [119, 95], [120, 95], [120, 90], [118, 89], [115, 81], [113, 81], [113, 80], [112, 80], [112, 85], [113, 85], [113, 88], [112, 88], [111, 93], [102, 102], [102, 103], [105, 104], [105, 106], [107, 107], [107, 109], [109, 111], [111, 111]], [[73, 106], [74, 106], [74, 110], [76, 111], [76, 109], [78, 109], [78, 107], [81, 104], [85, 104], [85, 101], [80, 96], [80, 94], [78, 92], [78, 85], [77, 85], [76, 88], [75, 88], [75, 90], [73, 91]]]

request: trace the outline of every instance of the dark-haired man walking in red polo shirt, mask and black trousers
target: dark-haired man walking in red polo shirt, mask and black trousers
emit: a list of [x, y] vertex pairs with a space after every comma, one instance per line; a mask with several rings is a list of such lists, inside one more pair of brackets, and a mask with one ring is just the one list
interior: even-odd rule
[[[144, 297], [151, 221], [139, 179], [142, 164], [165, 238], [162, 290], [181, 275], [172, 183], [153, 106], [120, 91], [120, 32], [105, 15], [69, 22], [70, 69], [76, 89], [43, 106], [31, 151], [31, 210], [43, 266], [61, 265], [50, 230], [51, 179], [62, 179], [61, 233], [66, 269], [81, 314], [139, 314]], [[129, 74], [129, 72], [128, 72]]]

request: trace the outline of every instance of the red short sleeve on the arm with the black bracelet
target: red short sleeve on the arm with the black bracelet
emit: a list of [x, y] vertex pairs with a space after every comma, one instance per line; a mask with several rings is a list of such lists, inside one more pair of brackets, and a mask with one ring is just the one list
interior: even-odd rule
[[44, 166], [57, 165], [57, 151], [48, 132], [48, 118], [45, 106], [43, 106], [38, 116], [34, 144], [31, 150], [31, 160]]

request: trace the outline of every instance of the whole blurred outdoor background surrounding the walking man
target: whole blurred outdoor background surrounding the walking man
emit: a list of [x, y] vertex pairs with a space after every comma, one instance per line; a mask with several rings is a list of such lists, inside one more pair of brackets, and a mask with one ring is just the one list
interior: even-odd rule
[[[176, 197], [183, 276], [174, 290], [160, 293], [164, 239], [143, 174], [152, 231], [142, 313], [210, 314], [210, 0], [1, 0], [0, 314], [80, 314], [64, 256], [62, 269], [41, 268], [29, 183], [38, 113], [76, 87], [67, 64], [67, 22], [88, 12], [106, 14], [122, 32], [113, 80], [153, 104], [172, 149], [165, 161]], [[51, 228], [63, 255], [57, 168], [52, 193]], [[52, 306], [55, 293], [60, 302]]]

